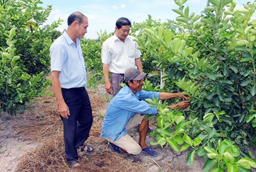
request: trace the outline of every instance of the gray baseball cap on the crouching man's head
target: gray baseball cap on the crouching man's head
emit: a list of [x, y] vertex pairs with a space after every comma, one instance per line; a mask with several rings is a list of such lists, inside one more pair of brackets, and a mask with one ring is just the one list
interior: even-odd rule
[[125, 83], [128, 83], [129, 80], [142, 80], [146, 75], [148, 74], [142, 74], [138, 69], [130, 68], [125, 71], [124, 81]]

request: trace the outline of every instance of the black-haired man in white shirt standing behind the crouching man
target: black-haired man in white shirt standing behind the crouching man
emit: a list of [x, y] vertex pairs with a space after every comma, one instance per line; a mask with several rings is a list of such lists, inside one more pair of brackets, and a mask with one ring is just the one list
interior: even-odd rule
[[[106, 91], [113, 97], [122, 88], [119, 83], [123, 81], [126, 69], [137, 68], [141, 73], [141, 52], [138, 44], [129, 35], [131, 22], [125, 17], [116, 21], [116, 33], [102, 44], [102, 63]], [[111, 72], [111, 80], [109, 80]]]

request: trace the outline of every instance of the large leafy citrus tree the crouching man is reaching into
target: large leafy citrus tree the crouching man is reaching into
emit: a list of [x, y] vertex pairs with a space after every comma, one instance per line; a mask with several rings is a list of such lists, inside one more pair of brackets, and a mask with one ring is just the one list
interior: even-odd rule
[[[214, 166], [215, 171], [255, 168], [254, 161], [238, 158], [248, 158], [250, 152], [233, 152], [237, 150], [234, 145], [243, 149], [255, 135], [256, 20], [250, 17], [256, 4], [248, 2], [235, 9], [233, 0], [208, 0], [198, 15], [185, 7], [186, 0], [175, 3], [178, 8], [173, 11], [179, 16], [174, 23], [145, 26], [136, 39], [143, 53], [154, 57], [154, 69], [166, 73], [163, 89], [184, 90], [192, 97], [189, 110], [160, 113], [156, 144], [170, 145], [176, 151], [189, 147], [189, 165], [195, 153], [209, 158], [204, 171]], [[165, 107], [157, 105], [157, 100], [151, 103]]]

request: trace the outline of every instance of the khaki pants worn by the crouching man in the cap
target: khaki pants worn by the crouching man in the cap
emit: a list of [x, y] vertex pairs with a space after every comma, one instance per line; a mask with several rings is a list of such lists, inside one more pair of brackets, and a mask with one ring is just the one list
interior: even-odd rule
[[[141, 121], [143, 120], [144, 115], [141, 116], [140, 114], [135, 114], [126, 124], [125, 128], [127, 130], [138, 126]], [[125, 149], [129, 154], [138, 155], [141, 152], [140, 145], [128, 134], [124, 135], [122, 138], [119, 138], [116, 141], [113, 141], [111, 138], [105, 138], [109, 142], [119, 146], [122, 149]]]

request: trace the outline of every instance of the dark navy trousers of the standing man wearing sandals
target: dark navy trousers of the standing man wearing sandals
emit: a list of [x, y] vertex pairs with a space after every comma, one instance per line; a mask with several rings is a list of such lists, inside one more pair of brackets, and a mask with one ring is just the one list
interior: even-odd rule
[[63, 121], [64, 143], [67, 161], [78, 158], [77, 148], [89, 137], [93, 124], [92, 108], [84, 87], [61, 89], [65, 103], [70, 110], [68, 119]]

